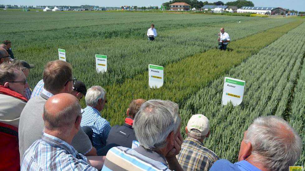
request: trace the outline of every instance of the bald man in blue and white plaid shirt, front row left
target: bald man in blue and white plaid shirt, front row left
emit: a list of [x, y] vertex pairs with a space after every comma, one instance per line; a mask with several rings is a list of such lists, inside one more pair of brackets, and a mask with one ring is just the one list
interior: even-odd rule
[[42, 115], [44, 134], [24, 153], [21, 170], [100, 170], [103, 156], [85, 157], [71, 146], [80, 130], [82, 113], [75, 96], [60, 93], [50, 97]]

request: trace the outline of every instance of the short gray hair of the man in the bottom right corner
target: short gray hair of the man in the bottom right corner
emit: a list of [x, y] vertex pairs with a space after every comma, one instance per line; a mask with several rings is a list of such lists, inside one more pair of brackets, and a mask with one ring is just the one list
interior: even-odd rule
[[249, 126], [244, 142], [251, 142], [254, 162], [268, 170], [286, 171], [298, 160], [302, 140], [282, 118], [259, 117]]

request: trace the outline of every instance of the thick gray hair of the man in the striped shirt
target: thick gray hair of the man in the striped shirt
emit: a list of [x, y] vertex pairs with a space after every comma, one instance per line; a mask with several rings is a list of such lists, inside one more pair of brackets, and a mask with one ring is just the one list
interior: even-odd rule
[[135, 135], [145, 149], [158, 150], [167, 144], [166, 138], [177, 133], [181, 124], [177, 103], [169, 100], [149, 100], [142, 104], [133, 121]]

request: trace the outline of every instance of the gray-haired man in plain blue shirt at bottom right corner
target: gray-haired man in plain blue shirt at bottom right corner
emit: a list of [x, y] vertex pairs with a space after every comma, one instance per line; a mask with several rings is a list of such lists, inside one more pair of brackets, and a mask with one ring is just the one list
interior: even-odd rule
[[210, 171], [287, 171], [300, 157], [302, 141], [282, 118], [260, 117], [244, 133], [238, 161], [217, 160]]

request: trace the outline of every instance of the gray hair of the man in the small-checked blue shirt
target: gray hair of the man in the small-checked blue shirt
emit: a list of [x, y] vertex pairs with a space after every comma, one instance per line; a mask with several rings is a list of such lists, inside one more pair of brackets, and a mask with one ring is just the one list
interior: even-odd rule
[[85, 96], [87, 106], [94, 107], [98, 104], [99, 99], [105, 100], [106, 90], [99, 85], [94, 85], [88, 89]]

